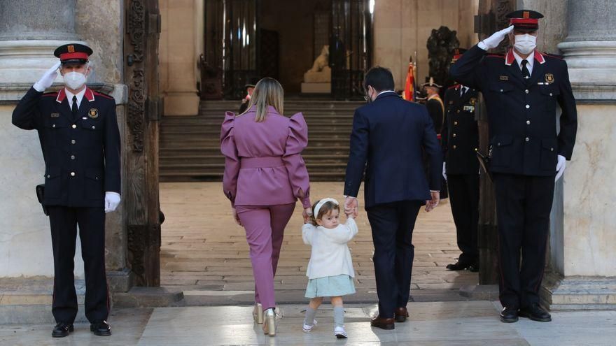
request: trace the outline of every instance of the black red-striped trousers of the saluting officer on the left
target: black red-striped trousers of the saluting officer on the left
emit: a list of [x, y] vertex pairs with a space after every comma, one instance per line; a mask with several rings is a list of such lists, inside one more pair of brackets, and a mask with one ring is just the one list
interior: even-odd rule
[[75, 245], [77, 226], [85, 271], [85, 317], [91, 323], [109, 315], [109, 288], [105, 274], [104, 208], [48, 206], [53, 246], [54, 287], [52, 314], [56, 322], [73, 323], [77, 315]]

